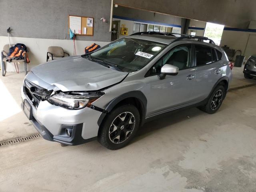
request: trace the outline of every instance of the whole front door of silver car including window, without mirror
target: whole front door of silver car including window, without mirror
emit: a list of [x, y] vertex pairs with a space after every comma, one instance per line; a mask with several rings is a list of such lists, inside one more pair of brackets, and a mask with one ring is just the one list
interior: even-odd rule
[[[154, 115], [179, 106], [190, 104], [195, 83], [196, 70], [191, 68], [192, 52], [190, 44], [182, 44], [172, 48], [149, 70], [147, 115]], [[179, 68], [176, 76], [166, 75], [158, 78], [162, 66], [171, 64]], [[153, 76], [150, 76], [153, 75]]]

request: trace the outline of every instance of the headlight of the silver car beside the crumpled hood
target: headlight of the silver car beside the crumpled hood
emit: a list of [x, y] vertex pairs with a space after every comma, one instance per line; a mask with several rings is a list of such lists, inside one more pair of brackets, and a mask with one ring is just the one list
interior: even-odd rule
[[92, 102], [96, 101], [102, 95], [104, 95], [103, 92], [86, 93], [86, 95], [60, 92], [48, 98], [48, 101], [54, 105], [68, 109], [82, 109], [90, 107]]

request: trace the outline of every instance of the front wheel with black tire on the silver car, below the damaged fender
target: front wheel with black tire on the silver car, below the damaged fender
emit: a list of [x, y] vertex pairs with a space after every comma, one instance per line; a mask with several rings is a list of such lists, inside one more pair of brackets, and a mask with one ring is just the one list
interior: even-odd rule
[[120, 149], [134, 138], [139, 125], [140, 113], [135, 106], [119, 106], [100, 125], [98, 142], [110, 150]]

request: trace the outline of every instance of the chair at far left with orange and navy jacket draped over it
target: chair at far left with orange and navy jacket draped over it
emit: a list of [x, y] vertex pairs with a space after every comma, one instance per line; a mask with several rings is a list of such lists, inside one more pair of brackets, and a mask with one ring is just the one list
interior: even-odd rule
[[[12, 45], [11, 45], [12, 46]], [[6, 74], [6, 62], [12, 62], [12, 63], [24, 63], [24, 66], [25, 66], [25, 71], [26, 71], [26, 74], [28, 73], [27, 72], [27, 61], [26, 59], [20, 59], [20, 60], [16, 60], [16, 59], [9, 59], [7, 58], [7, 55], [9, 53], [9, 44], [5, 45], [4, 48], [3, 48], [3, 51], [1, 52], [1, 71], [2, 71], [2, 76], [5, 76]], [[26, 53], [24, 54], [24, 58], [26, 58]]]

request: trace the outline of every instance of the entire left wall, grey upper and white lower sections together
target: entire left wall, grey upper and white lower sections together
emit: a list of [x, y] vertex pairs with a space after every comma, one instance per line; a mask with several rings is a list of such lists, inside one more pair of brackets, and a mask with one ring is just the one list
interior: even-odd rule
[[[110, 7], [111, 0], [0, 0], [0, 50], [8, 44], [6, 29], [11, 27], [11, 44], [24, 43], [30, 51], [29, 69], [46, 62], [49, 46], [61, 46], [73, 55], [68, 35], [70, 14], [94, 18], [94, 35], [76, 36], [76, 53], [83, 54], [84, 47], [93, 42], [101, 46], [110, 42]], [[13, 64], [7, 64], [7, 71], [14, 70]]]

